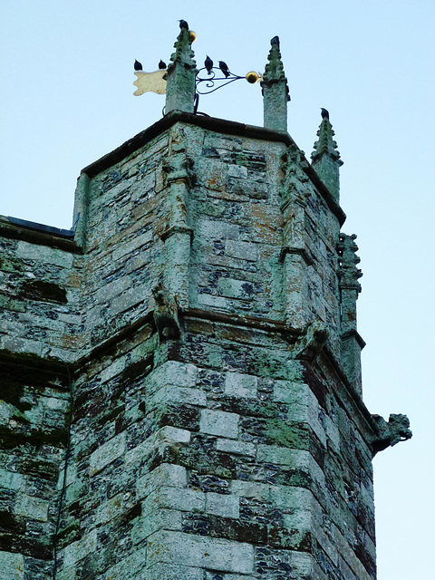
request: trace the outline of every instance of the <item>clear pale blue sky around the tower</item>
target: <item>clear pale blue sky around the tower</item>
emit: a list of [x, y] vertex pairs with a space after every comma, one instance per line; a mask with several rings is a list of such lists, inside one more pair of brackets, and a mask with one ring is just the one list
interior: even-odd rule
[[[364, 272], [364, 400], [387, 419], [407, 413], [414, 431], [374, 460], [379, 580], [432, 578], [435, 3], [150, 4], [0, 3], [0, 213], [71, 227], [80, 170], [160, 119], [163, 97], [132, 96], [132, 63], [168, 62], [179, 18], [198, 34], [198, 63], [208, 53], [240, 74], [264, 70], [278, 34], [288, 131], [309, 155], [327, 108], [344, 161], [343, 231], [358, 235]], [[257, 85], [235, 83], [200, 108], [262, 124]]]

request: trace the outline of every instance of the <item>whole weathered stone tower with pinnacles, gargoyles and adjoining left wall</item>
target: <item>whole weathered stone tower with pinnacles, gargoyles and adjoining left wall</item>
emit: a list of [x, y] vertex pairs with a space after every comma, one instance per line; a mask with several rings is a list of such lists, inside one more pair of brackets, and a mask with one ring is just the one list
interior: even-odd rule
[[373, 455], [354, 236], [329, 119], [194, 114], [181, 29], [166, 115], [86, 169], [71, 231], [0, 221], [0, 578], [369, 580]]

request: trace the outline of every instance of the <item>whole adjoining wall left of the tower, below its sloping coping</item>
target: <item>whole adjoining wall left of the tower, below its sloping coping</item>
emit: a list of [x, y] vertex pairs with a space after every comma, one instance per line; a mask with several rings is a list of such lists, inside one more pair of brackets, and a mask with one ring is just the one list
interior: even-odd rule
[[37, 580], [53, 575], [82, 256], [60, 238], [0, 227], [0, 578]]

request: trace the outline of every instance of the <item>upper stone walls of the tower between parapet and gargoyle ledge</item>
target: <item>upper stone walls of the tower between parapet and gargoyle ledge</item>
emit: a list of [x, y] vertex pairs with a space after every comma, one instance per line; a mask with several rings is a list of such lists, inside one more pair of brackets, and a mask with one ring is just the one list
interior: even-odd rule
[[[95, 176], [89, 186], [82, 282], [89, 346], [152, 311], [151, 290], [159, 281], [179, 294], [180, 283], [170, 273], [174, 260], [184, 260], [189, 269], [189, 275], [179, 276], [186, 278], [189, 293], [183, 307], [282, 320], [287, 224], [281, 206], [292, 188], [285, 181], [284, 154], [279, 142], [176, 124]], [[297, 164], [287, 165], [291, 172]], [[293, 269], [291, 276], [304, 280], [303, 323], [323, 320], [335, 344], [340, 324], [338, 221], [309, 179], [296, 178], [303, 190], [302, 249], [309, 266]], [[177, 190], [172, 193], [183, 179], [189, 180], [186, 201]], [[290, 208], [294, 218], [291, 200]], [[179, 240], [172, 245], [166, 237], [182, 220], [193, 232], [190, 256], [177, 256]]]

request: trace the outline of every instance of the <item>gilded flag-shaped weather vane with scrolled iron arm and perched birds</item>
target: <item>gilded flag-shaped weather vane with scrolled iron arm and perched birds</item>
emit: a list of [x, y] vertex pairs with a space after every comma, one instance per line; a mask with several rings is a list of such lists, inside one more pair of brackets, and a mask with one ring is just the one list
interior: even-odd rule
[[[181, 30], [186, 29], [189, 33], [190, 43], [194, 43], [197, 39], [197, 34], [193, 30], [189, 30], [189, 24], [186, 20], [179, 20], [179, 28]], [[159, 70], [153, 71], [151, 73], [146, 73], [142, 69], [142, 65], [139, 61], [134, 62], [134, 74], [138, 77], [133, 84], [137, 87], [137, 90], [133, 92], [135, 96], [140, 96], [144, 92], [157, 92], [158, 94], [166, 93], [166, 79], [167, 79], [167, 65], [160, 60]], [[201, 73], [207, 73], [207, 76], [201, 76]], [[209, 94], [211, 92], [218, 91], [227, 84], [231, 82], [239, 81], [241, 79], [246, 79], [250, 84], [255, 84], [260, 81], [262, 75], [256, 73], [255, 71], [250, 71], [246, 75], [238, 75], [232, 73], [227, 63], [224, 61], [218, 61], [218, 66], [214, 66], [213, 61], [207, 55], [204, 61], [204, 66], [198, 70], [195, 78], [195, 114], [206, 114], [198, 112], [198, 102], [199, 95]]]

